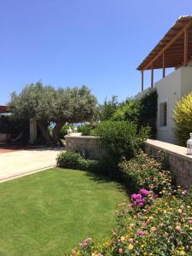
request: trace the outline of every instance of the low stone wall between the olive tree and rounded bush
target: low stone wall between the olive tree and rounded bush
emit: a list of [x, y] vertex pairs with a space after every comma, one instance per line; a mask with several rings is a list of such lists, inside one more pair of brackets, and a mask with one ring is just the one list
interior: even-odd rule
[[66, 150], [79, 152], [93, 160], [99, 159], [102, 155], [102, 151], [97, 142], [98, 137], [67, 135], [65, 139]]

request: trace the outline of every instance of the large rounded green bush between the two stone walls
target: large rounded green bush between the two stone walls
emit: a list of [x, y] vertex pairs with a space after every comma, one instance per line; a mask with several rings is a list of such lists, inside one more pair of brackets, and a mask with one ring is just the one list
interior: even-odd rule
[[106, 154], [106, 166], [113, 176], [122, 157], [131, 159], [137, 155], [138, 149], [148, 137], [148, 128], [137, 132], [137, 125], [133, 123], [108, 120], [97, 125], [94, 134], [99, 137], [101, 148]]

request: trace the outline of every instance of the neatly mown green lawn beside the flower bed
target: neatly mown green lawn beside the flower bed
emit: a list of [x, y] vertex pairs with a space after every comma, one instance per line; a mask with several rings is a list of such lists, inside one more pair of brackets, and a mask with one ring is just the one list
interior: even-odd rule
[[0, 255], [65, 255], [86, 237], [111, 235], [117, 183], [54, 168], [0, 183]]

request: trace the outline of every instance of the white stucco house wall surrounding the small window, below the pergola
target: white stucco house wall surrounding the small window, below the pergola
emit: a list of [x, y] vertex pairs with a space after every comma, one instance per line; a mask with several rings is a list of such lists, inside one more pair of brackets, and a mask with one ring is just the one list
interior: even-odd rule
[[[157, 139], [167, 143], [176, 143], [172, 110], [181, 96], [192, 90], [192, 67], [180, 67], [155, 83], [154, 86], [158, 93]], [[167, 102], [166, 126], [160, 126], [160, 103], [162, 102]]]

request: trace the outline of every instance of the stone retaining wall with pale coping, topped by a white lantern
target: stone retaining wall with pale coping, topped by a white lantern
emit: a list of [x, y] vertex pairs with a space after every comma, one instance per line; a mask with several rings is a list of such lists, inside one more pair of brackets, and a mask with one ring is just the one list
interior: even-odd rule
[[186, 154], [186, 148], [171, 143], [147, 140], [145, 152], [156, 159], [164, 155], [177, 185], [184, 188], [192, 186], [192, 156]]

